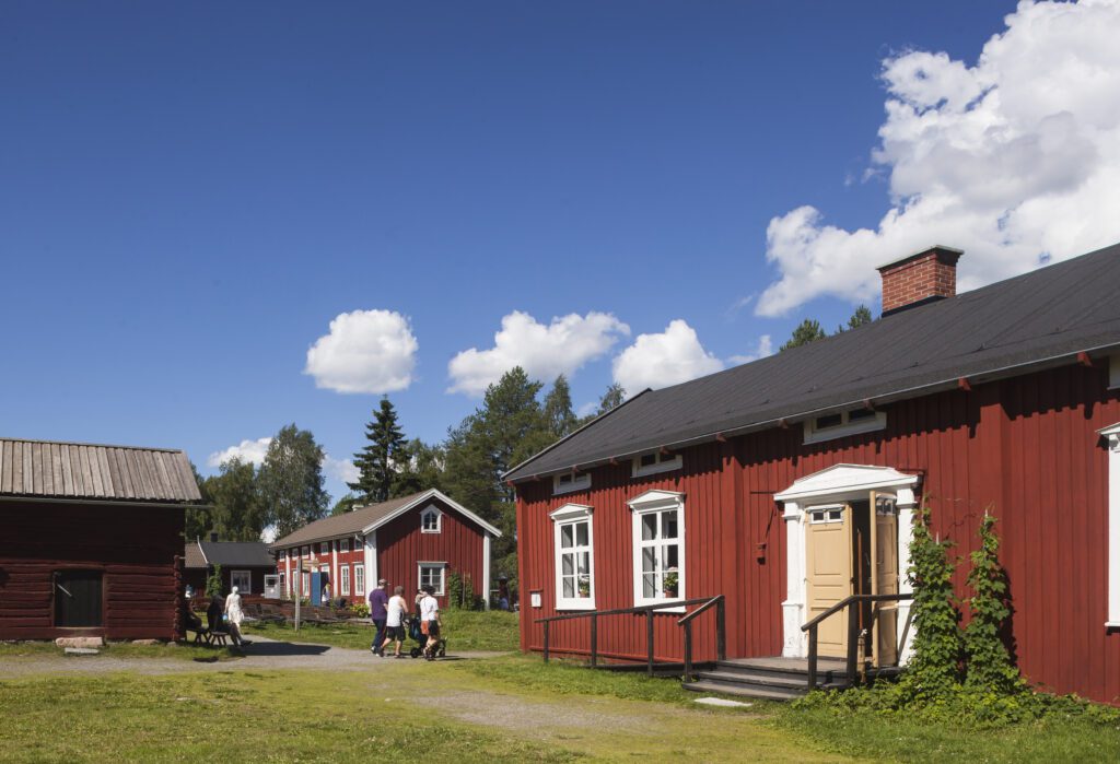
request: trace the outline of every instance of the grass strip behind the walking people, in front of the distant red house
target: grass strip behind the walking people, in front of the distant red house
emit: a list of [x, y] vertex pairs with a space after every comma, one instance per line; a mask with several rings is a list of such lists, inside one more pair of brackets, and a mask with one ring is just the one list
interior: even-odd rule
[[[455, 651], [486, 650], [512, 652], [517, 649], [517, 614], [502, 611], [449, 610], [440, 613], [448, 647]], [[246, 635], [260, 634], [274, 640], [329, 644], [336, 648], [368, 650], [373, 642], [372, 625], [340, 623], [334, 625], [304, 624], [299, 632], [290, 625], [249, 623]], [[405, 647], [413, 643], [405, 640]]]

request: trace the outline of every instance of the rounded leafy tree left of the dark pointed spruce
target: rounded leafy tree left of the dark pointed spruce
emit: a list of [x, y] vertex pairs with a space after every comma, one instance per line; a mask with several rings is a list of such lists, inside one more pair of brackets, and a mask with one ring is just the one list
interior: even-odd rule
[[295, 424], [282, 427], [258, 473], [265, 520], [281, 538], [318, 520], [327, 512], [330, 496], [323, 488], [323, 447], [315, 436]]

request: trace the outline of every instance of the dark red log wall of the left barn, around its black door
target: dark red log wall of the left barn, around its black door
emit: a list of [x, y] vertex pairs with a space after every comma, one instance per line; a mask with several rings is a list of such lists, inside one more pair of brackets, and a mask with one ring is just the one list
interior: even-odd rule
[[[0, 502], [0, 639], [174, 639], [184, 512], [167, 507]], [[56, 629], [53, 573], [102, 570], [103, 626]]]

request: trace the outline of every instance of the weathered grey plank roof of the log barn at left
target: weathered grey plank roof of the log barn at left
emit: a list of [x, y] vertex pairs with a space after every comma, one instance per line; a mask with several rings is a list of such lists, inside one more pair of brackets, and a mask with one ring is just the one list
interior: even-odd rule
[[0, 497], [202, 501], [181, 451], [0, 438]]

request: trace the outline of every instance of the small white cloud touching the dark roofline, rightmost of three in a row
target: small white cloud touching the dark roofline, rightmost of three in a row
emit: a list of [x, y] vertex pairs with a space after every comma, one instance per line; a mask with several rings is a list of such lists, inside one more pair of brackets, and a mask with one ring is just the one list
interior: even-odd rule
[[618, 353], [614, 377], [627, 395], [636, 395], [646, 387], [668, 387], [722, 368], [724, 362], [700, 345], [696, 329], [675, 319], [659, 334], [638, 334]]

